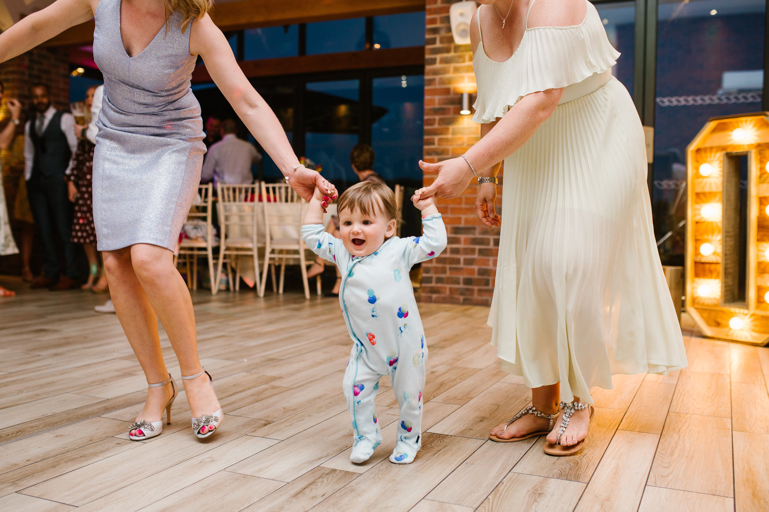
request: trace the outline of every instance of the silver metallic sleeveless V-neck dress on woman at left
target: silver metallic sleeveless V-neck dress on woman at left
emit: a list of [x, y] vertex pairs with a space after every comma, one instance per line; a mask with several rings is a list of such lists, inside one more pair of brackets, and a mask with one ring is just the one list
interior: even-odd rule
[[190, 28], [171, 15], [151, 43], [128, 57], [120, 0], [95, 12], [94, 60], [104, 74], [93, 164], [99, 250], [151, 243], [174, 250], [200, 182], [205, 153], [190, 77]]

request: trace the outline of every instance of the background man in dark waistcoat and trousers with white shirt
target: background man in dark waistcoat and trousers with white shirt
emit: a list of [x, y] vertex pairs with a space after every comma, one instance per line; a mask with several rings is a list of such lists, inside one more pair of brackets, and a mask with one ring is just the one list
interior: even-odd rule
[[[75, 118], [52, 107], [47, 85], [35, 84], [31, 93], [35, 115], [24, 129], [24, 174], [43, 253], [43, 276], [35, 279], [32, 288], [72, 289], [79, 285], [77, 246], [70, 240], [72, 205], [64, 177], [72, 169], [78, 145]], [[57, 242], [65, 259], [61, 278]]]

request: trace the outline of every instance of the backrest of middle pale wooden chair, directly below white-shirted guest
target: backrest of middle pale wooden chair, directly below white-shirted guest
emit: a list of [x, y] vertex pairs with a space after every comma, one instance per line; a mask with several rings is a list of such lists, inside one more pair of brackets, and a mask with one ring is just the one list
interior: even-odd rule
[[258, 183], [226, 185], [217, 183], [221, 239], [252, 238], [256, 243]]

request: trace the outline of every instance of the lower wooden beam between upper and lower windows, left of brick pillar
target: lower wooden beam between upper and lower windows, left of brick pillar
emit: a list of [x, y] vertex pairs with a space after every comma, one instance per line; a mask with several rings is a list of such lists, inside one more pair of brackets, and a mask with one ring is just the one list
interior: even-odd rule
[[[265, 58], [242, 61], [243, 73], [248, 78], [273, 77], [287, 74], [322, 73], [354, 69], [394, 68], [396, 66], [424, 65], [424, 46], [387, 48], [384, 50], [347, 51], [301, 57]], [[211, 81], [205, 64], [195, 67], [192, 82]]]

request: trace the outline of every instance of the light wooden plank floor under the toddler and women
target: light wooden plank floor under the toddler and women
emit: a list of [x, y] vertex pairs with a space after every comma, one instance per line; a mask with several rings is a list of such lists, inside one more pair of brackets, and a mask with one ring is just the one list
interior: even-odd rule
[[[424, 440], [391, 464], [397, 401], [381, 382], [384, 442], [351, 464], [341, 391], [351, 342], [335, 299], [193, 295], [201, 358], [225, 422], [198, 441], [182, 392], [173, 424], [128, 441], [144, 375], [89, 292], [0, 299], [0, 510], [769, 510], [769, 348], [687, 333], [690, 366], [615, 375], [574, 457], [544, 438], [488, 441], [528, 402], [499, 369], [488, 309], [424, 304]], [[179, 368], [161, 334], [167, 365]]]

